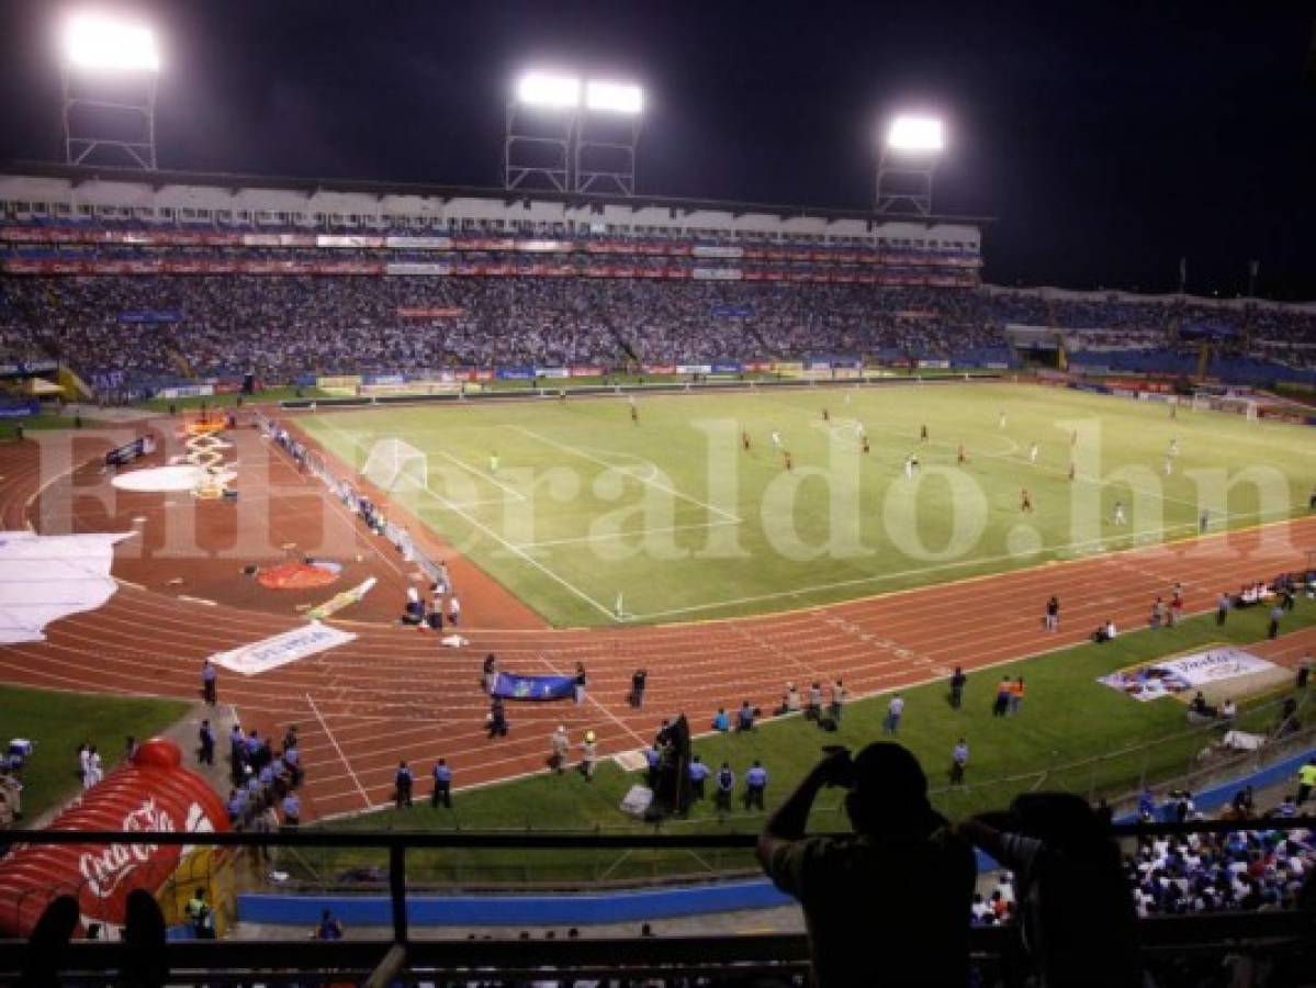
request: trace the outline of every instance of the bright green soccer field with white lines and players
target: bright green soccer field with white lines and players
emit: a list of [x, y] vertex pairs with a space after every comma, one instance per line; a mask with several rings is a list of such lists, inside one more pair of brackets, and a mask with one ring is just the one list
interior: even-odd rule
[[1183, 538], [1203, 514], [1212, 531], [1254, 525], [1305, 512], [1316, 480], [1303, 426], [1171, 420], [1158, 403], [1058, 388], [757, 388], [634, 407], [637, 421], [617, 396], [299, 424], [559, 626], [825, 604]]

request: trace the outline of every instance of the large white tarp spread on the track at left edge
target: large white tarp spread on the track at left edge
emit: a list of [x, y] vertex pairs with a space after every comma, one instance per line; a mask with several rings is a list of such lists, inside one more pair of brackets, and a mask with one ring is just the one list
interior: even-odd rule
[[114, 543], [136, 533], [0, 531], [0, 645], [42, 642], [51, 621], [95, 610], [118, 584]]

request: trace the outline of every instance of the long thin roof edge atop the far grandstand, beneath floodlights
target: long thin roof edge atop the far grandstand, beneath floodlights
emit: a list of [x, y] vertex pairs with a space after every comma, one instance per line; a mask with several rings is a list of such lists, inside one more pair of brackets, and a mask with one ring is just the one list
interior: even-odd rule
[[29, 175], [34, 178], [66, 179], [79, 185], [87, 182], [125, 182], [130, 184], [147, 184], [155, 188], [166, 185], [213, 185], [218, 188], [240, 189], [279, 189], [290, 192], [304, 192], [308, 196], [316, 192], [354, 192], [370, 195], [379, 199], [384, 196], [428, 196], [432, 199], [500, 199], [505, 203], [522, 200], [538, 200], [551, 203], [565, 203], [567, 205], [608, 205], [630, 209], [666, 208], [686, 213], [700, 210], [716, 210], [733, 213], [736, 216], [759, 213], [778, 216], [782, 218], [792, 216], [809, 216], [824, 220], [869, 220], [874, 224], [907, 222], [917, 226], [933, 226], [936, 224], [966, 224], [973, 226], [986, 226], [994, 222], [990, 216], [903, 216], [890, 213], [876, 213], [873, 209], [832, 209], [812, 205], [782, 205], [767, 203], [737, 203], [712, 199], [686, 199], [679, 196], [609, 196], [575, 192], [553, 191], [508, 191], [505, 188], [487, 188], [478, 185], [440, 185], [405, 182], [374, 182], [367, 179], [307, 179], [278, 175], [240, 175], [233, 172], [203, 172], [203, 171], [142, 171], [139, 168], [117, 168], [91, 164], [63, 164], [57, 162], [5, 162], [0, 171], [7, 175]]

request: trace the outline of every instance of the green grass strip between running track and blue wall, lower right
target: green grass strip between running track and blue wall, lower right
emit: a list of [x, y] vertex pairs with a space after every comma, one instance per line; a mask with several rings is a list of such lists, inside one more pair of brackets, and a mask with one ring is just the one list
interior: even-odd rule
[[[1286, 630], [1316, 625], [1316, 604], [1303, 600], [1284, 618]], [[1096, 683], [1096, 678], [1157, 658], [1205, 649], [1211, 645], [1246, 646], [1265, 635], [1263, 608], [1234, 612], [1224, 628], [1213, 617], [1192, 618], [1175, 629], [1140, 630], [1107, 645], [1082, 645], [1063, 651], [1011, 663], [971, 675], [963, 709], [951, 710], [944, 683], [904, 692], [907, 700], [899, 741], [924, 764], [933, 788], [933, 803], [951, 818], [1004, 808], [1029, 789], [1069, 789], [1084, 796], [1119, 796], [1144, 783], [1159, 784], [1195, 767], [1203, 747], [1223, 734], [1223, 728], [1190, 729], [1186, 706], [1173, 699], [1138, 703]], [[995, 685], [1001, 675], [1024, 676], [1028, 684], [1023, 710], [1016, 717], [991, 716]], [[1244, 730], [1273, 726], [1279, 693], [1257, 696], [1240, 704]], [[824, 734], [801, 717], [771, 718], [751, 734], [707, 737], [695, 751], [716, 771], [726, 760], [737, 775], [733, 816], [720, 820], [709, 799], [695, 805], [687, 820], [667, 821], [667, 830], [757, 833], [763, 814], [746, 813], [740, 803], [745, 770], [761, 759], [770, 772], [767, 806], [784, 799], [816, 762], [824, 743], [857, 750], [882, 738], [887, 696], [855, 701], [845, 708], [841, 729]], [[1307, 712], [1309, 708], [1304, 708]], [[516, 731], [516, 708], [511, 709]], [[695, 731], [708, 725], [691, 725]], [[969, 785], [950, 789], [946, 772], [958, 738], [971, 751]], [[491, 742], [496, 743], [496, 742]], [[549, 738], [544, 738], [545, 755]], [[1096, 754], [1094, 754], [1096, 753]], [[624, 772], [613, 762], [600, 764], [594, 781], [579, 772], [563, 776], [536, 774], [516, 781], [459, 791], [454, 808], [432, 809], [428, 801], [430, 766], [413, 766], [417, 774], [416, 805], [409, 810], [384, 810], [336, 820], [333, 827], [407, 830], [576, 830], [641, 833], [647, 826], [621, 813], [620, 803], [642, 774]], [[457, 785], [462, 784], [458, 775]], [[841, 793], [825, 791], [815, 805], [811, 826], [844, 829], [838, 812]], [[334, 881], [353, 868], [383, 867], [382, 855], [371, 851], [326, 850], [292, 863], [301, 877]], [[413, 883], [580, 883], [712, 874], [754, 867], [744, 852], [695, 854], [630, 851], [445, 851], [408, 855]]]

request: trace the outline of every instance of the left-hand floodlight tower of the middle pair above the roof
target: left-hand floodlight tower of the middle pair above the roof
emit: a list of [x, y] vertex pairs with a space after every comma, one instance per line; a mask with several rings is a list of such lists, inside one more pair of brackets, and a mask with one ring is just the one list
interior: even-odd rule
[[528, 72], [507, 104], [504, 187], [571, 191], [571, 157], [580, 111], [580, 80]]

